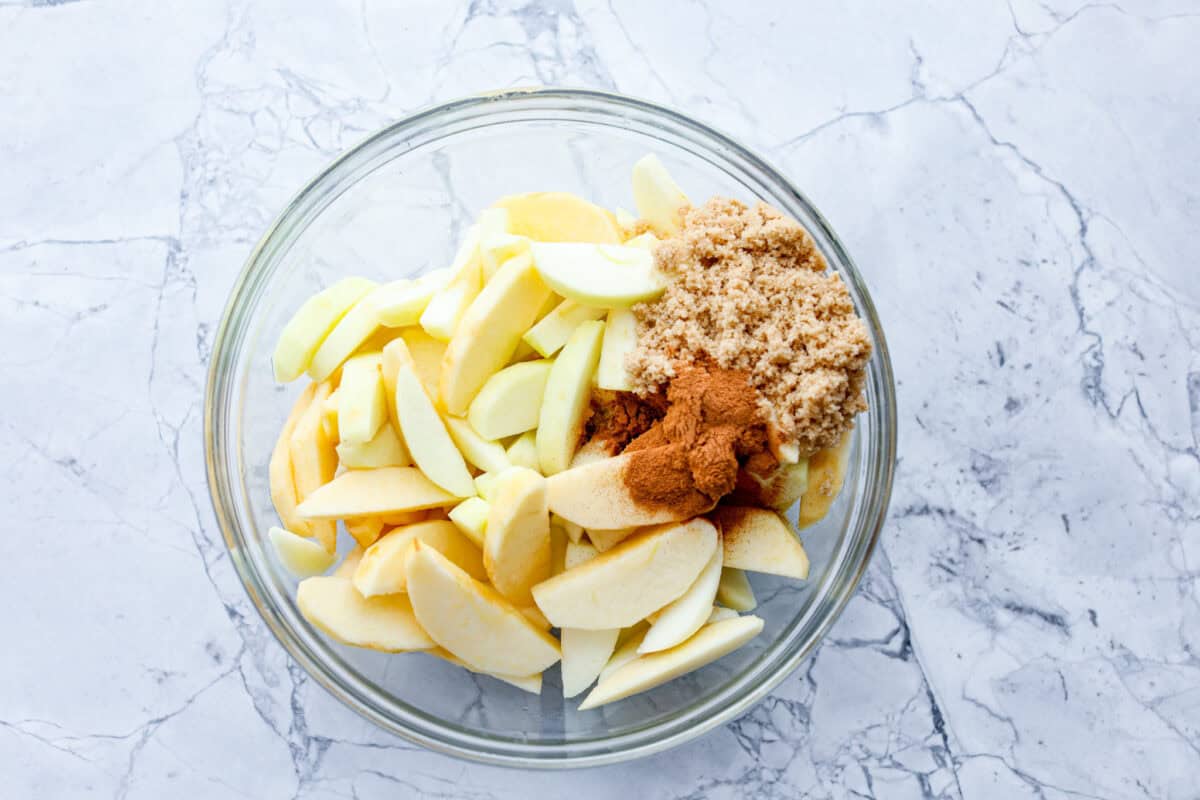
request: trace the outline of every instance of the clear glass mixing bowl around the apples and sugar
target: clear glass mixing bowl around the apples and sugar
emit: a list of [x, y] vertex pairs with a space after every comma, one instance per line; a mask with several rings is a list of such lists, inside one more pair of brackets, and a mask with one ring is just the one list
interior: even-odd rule
[[[634, 162], [655, 152], [697, 199], [762, 199], [799, 219], [841, 273], [870, 329], [870, 410], [845, 488], [804, 531], [809, 581], [752, 576], [766, 627], [684, 678], [592, 711], [563, 700], [558, 668], [540, 697], [419, 654], [336, 644], [295, 604], [274, 558], [266, 465], [300, 383], [275, 384], [271, 350], [289, 314], [348, 275], [378, 281], [446, 266], [467, 224], [504, 194], [562, 190], [630, 206]], [[205, 397], [209, 487], [246, 591], [287, 651], [348, 706], [406, 739], [481, 762], [583, 766], [673, 747], [743, 714], [816, 646], [866, 569], [887, 511], [895, 405], [887, 345], [866, 287], [811, 203], [742, 145], [676, 112], [594, 91], [512, 91], [462, 100], [376, 133], [283, 210], [238, 278], [216, 335]], [[794, 510], [792, 511], [794, 515]], [[341, 536], [343, 551], [349, 537]]]

